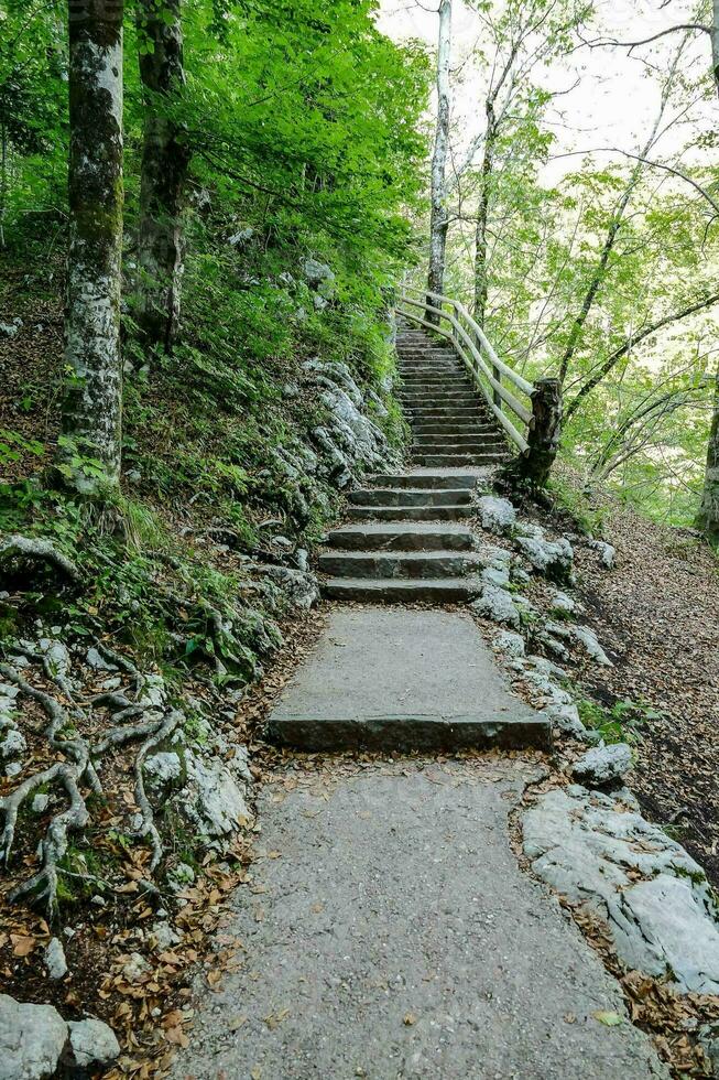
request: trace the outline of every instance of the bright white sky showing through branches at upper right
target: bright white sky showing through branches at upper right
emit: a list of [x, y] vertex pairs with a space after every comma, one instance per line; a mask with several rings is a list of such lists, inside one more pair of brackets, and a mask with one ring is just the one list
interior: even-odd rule
[[[498, 0], [499, 7], [500, 0]], [[696, 3], [693, 0], [598, 0], [597, 18], [587, 32], [589, 39], [611, 36], [635, 41], [682, 22], [693, 22]], [[395, 40], [416, 37], [436, 47], [436, 0], [381, 0], [379, 25]], [[483, 108], [482, 76], [472, 68], [471, 53], [481, 24], [465, 0], [453, 4], [453, 138], [455, 152], [481, 130]], [[547, 115], [557, 134], [554, 153], [589, 150], [598, 147], [621, 147], [634, 151], [644, 140], [656, 115], [658, 89], [647, 76], [640, 57], [651, 58], [660, 71], [666, 71], [668, 56], [676, 48], [678, 34], [661, 39], [653, 45], [635, 50], [633, 56], [621, 48], [580, 48], [571, 57], [555, 64], [542, 75], [545, 86], [567, 89], [580, 76], [579, 85], [557, 99]], [[686, 54], [691, 71], [698, 74], [710, 65], [708, 34], [696, 33]], [[559, 112], [560, 110], [560, 112]], [[699, 130], [717, 130], [719, 105], [716, 98], [701, 102], [691, 122], [674, 128], [664, 138], [656, 155], [667, 159], [682, 149]], [[702, 151], [706, 161], [706, 150]], [[619, 155], [606, 155], [604, 161], [623, 161]], [[685, 158], [690, 161], [690, 156]], [[555, 182], [563, 173], [579, 169], [581, 158], [565, 158], [547, 170], [545, 182]]]

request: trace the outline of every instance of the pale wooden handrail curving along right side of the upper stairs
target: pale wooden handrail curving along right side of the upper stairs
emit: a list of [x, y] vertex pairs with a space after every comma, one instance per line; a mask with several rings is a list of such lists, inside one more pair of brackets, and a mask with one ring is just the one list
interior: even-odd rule
[[[413, 300], [411, 296], [406, 295], [406, 293], [410, 291], [426, 299], [423, 301]], [[438, 302], [438, 306], [431, 304], [428, 302], [429, 300]], [[404, 310], [400, 307], [400, 304], [404, 305]], [[443, 304], [449, 304], [454, 311], [454, 314], [445, 311], [442, 306]], [[414, 311], [407, 311], [407, 305], [410, 307], [418, 307], [425, 314], [432, 313], [437, 315], [438, 322], [431, 322], [428, 318], [423, 318]], [[444, 296], [440, 293], [431, 291], [421, 292], [418, 289], [405, 289], [404, 294], [401, 296], [397, 304], [397, 309], [403, 315], [411, 318], [414, 323], [426, 326], [434, 333], [449, 339], [455, 350], [467, 366], [477, 388], [481, 391], [492, 414], [502, 425], [510, 440], [515, 446], [519, 447], [520, 452], [525, 453], [529, 449], [526, 438], [524, 433], [520, 431], [503, 412], [501, 402], [504, 401], [516, 419], [527, 428], [532, 421], [533, 411], [532, 408], [527, 408], [515, 397], [514, 393], [512, 393], [511, 390], [503, 386], [501, 377], [504, 376], [521, 393], [529, 397], [530, 401], [532, 401], [532, 395], [534, 393], [535, 387], [533, 384], [527, 382], [526, 379], [522, 378], [521, 375], [518, 375], [516, 371], [509, 366], [509, 364], [505, 364], [499, 358], [492, 348], [491, 343], [488, 341], [487, 335], [481, 327], [477, 325], [476, 321], [469, 314], [465, 305], [458, 300], [453, 300], [450, 296]], [[447, 330], [442, 326], [442, 320], [449, 323], [451, 328]], [[460, 320], [464, 320], [467, 326], [462, 325]], [[471, 336], [472, 334], [475, 335], [473, 339]], [[465, 352], [465, 348], [462, 348], [460, 345], [459, 339], [461, 339], [462, 345], [465, 345], [465, 347], [468, 349], [471, 359]], [[484, 360], [482, 350], [487, 354], [489, 364]], [[492, 388], [491, 393], [488, 390], [486, 382]]]

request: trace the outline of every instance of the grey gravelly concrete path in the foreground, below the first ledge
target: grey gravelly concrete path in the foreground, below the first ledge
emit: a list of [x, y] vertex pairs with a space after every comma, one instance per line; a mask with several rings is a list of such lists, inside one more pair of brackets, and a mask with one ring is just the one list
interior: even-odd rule
[[279, 776], [261, 812], [269, 857], [226, 931], [244, 964], [203, 989], [174, 1076], [666, 1078], [625, 1018], [593, 1015], [625, 1016], [617, 983], [510, 850], [532, 768], [338, 767], [314, 793]]

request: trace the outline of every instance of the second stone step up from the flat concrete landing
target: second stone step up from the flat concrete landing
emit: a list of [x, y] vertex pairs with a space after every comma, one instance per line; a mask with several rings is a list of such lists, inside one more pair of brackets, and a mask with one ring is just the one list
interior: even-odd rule
[[319, 570], [330, 577], [390, 581], [466, 577], [479, 569], [479, 555], [457, 551], [324, 551]]

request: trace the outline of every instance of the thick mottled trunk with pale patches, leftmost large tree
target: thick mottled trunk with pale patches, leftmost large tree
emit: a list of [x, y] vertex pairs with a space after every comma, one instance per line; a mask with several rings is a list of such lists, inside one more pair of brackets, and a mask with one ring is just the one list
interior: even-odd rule
[[97, 494], [120, 477], [123, 0], [68, 0], [68, 13], [72, 377], [59, 458], [70, 486]]

